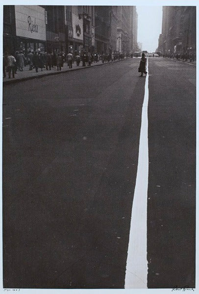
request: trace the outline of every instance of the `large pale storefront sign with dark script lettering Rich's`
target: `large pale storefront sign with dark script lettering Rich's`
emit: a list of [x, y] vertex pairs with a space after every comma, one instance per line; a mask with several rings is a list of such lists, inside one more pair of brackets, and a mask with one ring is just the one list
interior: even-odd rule
[[15, 5], [16, 34], [46, 41], [45, 9], [38, 5]]

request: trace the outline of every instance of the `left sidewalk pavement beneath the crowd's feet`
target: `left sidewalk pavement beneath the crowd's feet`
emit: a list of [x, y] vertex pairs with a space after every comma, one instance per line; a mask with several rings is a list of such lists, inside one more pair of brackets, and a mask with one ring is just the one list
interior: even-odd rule
[[[126, 59], [126, 58], [125, 58]], [[85, 68], [90, 68], [93, 66], [99, 66], [99, 65], [106, 65], [106, 64], [111, 64], [113, 62], [118, 62], [118, 61], [122, 61], [125, 59], [120, 59], [120, 60], [115, 60], [115, 61], [110, 61], [110, 62], [104, 62], [102, 63], [102, 61], [100, 60], [99, 62], [93, 62], [91, 64], [91, 66], [82, 66], [82, 62], [80, 63], [79, 66], [76, 66], [76, 62], [73, 64], [73, 68], [69, 69], [68, 64], [64, 63], [64, 66], [62, 67], [61, 71], [57, 71], [57, 68], [51, 68], [51, 70], [46, 70], [45, 68], [43, 69], [43, 71], [41, 71], [41, 69], [38, 69], [38, 73], [35, 72], [35, 69], [33, 69], [32, 71], [29, 71], [29, 65], [24, 67], [24, 71], [23, 72], [19, 72], [17, 71], [17, 73], [15, 74], [15, 78], [12, 78], [12, 74], [11, 74], [11, 78], [8, 78], [8, 73], [6, 73], [6, 77], [3, 78], [3, 85], [7, 85], [7, 84], [13, 84], [13, 83], [17, 83], [23, 80], [28, 80], [28, 79], [33, 79], [33, 78], [40, 78], [43, 76], [47, 76], [47, 75], [54, 75], [54, 74], [59, 74], [59, 73], [67, 73], [70, 71], [76, 71], [76, 70], [81, 70], [81, 69], [85, 69]]]

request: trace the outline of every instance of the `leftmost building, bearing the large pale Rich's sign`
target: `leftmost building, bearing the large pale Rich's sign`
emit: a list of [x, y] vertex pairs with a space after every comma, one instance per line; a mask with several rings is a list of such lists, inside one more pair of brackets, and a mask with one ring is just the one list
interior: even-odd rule
[[46, 11], [39, 5], [3, 6], [3, 50], [44, 50], [47, 44]]

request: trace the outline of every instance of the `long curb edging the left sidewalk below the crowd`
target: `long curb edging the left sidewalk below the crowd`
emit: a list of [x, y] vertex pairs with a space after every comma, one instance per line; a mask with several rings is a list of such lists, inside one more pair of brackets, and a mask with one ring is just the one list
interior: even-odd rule
[[[129, 57], [127, 57], [127, 58], [129, 58]], [[72, 68], [70, 70], [68, 69], [68, 70], [65, 70], [65, 71], [59, 71], [59, 72], [54, 72], [54, 73], [44, 73], [44, 74], [40, 74], [40, 75], [27, 76], [27, 77], [13, 79], [13, 80], [9, 80], [9, 81], [4, 81], [3, 86], [10, 85], [10, 84], [16, 84], [16, 83], [19, 83], [19, 82], [22, 82], [22, 81], [27, 81], [29, 79], [41, 78], [41, 77], [48, 76], [48, 75], [55, 75], [55, 74], [61, 74], [61, 73], [70, 73], [72, 71], [79, 71], [79, 70], [83, 70], [83, 69], [93, 68], [93, 67], [96, 67], [96, 66], [113, 64], [115, 62], [124, 61], [127, 58], [121, 59], [121, 60], [115, 60], [114, 62], [100, 63], [100, 64], [96, 64], [94, 66], [85, 66], [85, 67], [82, 66], [82, 67], [78, 67], [78, 68], [74, 68], [74, 69]]]

